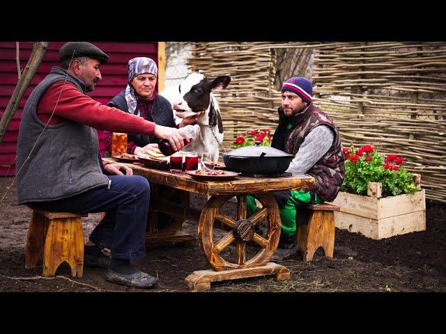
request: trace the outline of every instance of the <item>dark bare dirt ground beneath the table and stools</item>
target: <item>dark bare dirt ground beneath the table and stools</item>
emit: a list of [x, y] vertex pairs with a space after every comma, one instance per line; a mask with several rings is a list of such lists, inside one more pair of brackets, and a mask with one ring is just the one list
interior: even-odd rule
[[[31, 209], [17, 205], [15, 186], [8, 189], [12, 182], [13, 177], [0, 179], [0, 199], [9, 190], [0, 203], [0, 292], [188, 292], [185, 278], [210, 269], [198, 245], [176, 245], [148, 248], [146, 258], [135, 262], [159, 278], [152, 289], [109, 283], [105, 269], [84, 268], [82, 278], [72, 278], [66, 264], [55, 278], [43, 278], [41, 261], [34, 269], [24, 267]], [[197, 208], [205, 201], [203, 196], [191, 197]], [[446, 205], [428, 200], [426, 206], [424, 232], [377, 241], [337, 229], [332, 259], [318, 250], [312, 262], [302, 262], [299, 253], [277, 262], [291, 271], [290, 280], [232, 280], [212, 283], [210, 292], [446, 292]], [[236, 203], [228, 202], [223, 209], [233, 213]], [[82, 219], [85, 237], [98, 221], [99, 214]], [[197, 236], [197, 223], [186, 221], [183, 229]]]

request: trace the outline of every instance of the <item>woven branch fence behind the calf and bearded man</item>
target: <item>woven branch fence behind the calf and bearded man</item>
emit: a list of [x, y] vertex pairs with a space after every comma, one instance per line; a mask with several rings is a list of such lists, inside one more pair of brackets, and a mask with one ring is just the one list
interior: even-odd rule
[[232, 78], [217, 93], [225, 150], [241, 132], [277, 127], [275, 61], [284, 48], [313, 50], [314, 104], [337, 125], [344, 147], [372, 143], [405, 157], [426, 197], [446, 202], [446, 43], [194, 43], [191, 70]]

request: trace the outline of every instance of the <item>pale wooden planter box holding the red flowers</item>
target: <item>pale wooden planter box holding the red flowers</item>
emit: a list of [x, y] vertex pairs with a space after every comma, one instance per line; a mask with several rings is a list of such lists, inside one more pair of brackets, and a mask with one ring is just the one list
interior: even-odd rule
[[377, 240], [426, 230], [426, 198], [419, 174], [414, 174], [414, 181], [420, 191], [386, 198], [379, 182], [369, 182], [367, 196], [339, 192], [333, 201], [340, 207], [334, 212], [335, 226]]

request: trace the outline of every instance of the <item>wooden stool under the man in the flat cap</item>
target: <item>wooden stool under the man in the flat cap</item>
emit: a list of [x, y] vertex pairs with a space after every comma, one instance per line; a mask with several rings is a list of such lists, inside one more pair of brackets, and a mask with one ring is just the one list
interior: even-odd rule
[[43, 276], [54, 276], [62, 262], [67, 262], [73, 277], [84, 270], [84, 230], [81, 217], [88, 214], [47, 212], [33, 209], [26, 241], [25, 268], [35, 268], [43, 253]]

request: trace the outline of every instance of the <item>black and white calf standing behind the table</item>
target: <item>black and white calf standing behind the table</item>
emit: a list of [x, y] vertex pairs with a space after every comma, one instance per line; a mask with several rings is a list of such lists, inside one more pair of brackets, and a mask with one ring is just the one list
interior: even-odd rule
[[185, 147], [188, 151], [210, 153], [213, 161], [217, 161], [220, 154], [220, 144], [223, 142], [223, 123], [220, 108], [213, 91], [226, 88], [231, 77], [223, 75], [209, 80], [203, 74], [191, 73], [179, 87], [171, 87], [160, 94], [169, 100], [174, 109], [176, 123], [183, 118], [201, 113], [197, 123], [200, 125], [200, 135]]

